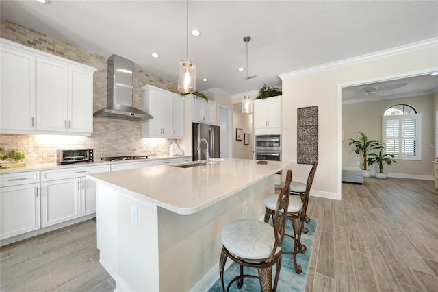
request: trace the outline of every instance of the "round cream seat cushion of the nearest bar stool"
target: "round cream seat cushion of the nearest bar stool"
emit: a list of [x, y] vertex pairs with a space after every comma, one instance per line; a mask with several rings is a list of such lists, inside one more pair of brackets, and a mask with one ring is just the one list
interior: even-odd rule
[[[269, 258], [275, 242], [274, 228], [255, 219], [231, 221], [222, 230], [221, 237], [231, 254], [248, 260]], [[280, 247], [277, 252], [281, 252]]]

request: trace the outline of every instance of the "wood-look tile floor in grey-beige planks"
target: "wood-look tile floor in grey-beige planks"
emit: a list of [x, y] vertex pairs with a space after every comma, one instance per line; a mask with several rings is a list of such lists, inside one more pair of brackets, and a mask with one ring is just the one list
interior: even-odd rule
[[[307, 213], [318, 228], [306, 291], [438, 291], [432, 181], [364, 178], [342, 184], [342, 201], [311, 197]], [[0, 249], [0, 291], [114, 287], [91, 220]]]

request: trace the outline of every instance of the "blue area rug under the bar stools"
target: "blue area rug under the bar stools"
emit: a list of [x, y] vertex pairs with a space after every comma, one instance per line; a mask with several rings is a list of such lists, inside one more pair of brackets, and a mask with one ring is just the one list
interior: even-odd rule
[[[302, 292], [305, 291], [306, 282], [307, 282], [307, 274], [309, 273], [309, 264], [310, 258], [313, 250], [313, 241], [315, 241], [315, 231], [317, 226], [317, 221], [315, 219], [311, 219], [310, 223], [305, 223], [305, 226], [309, 228], [309, 233], [302, 233], [301, 235], [301, 243], [306, 245], [307, 251], [305, 254], [298, 253], [297, 255], [297, 263], [302, 267], [302, 273], [299, 275], [295, 272], [294, 267], [294, 258], [292, 254], [283, 254], [281, 260], [281, 271], [280, 271], [280, 279], [279, 279], [279, 287], [277, 291], [279, 292]], [[293, 234], [292, 232], [292, 224], [290, 221], [287, 222], [287, 233]], [[292, 251], [294, 250], [294, 240], [288, 236], [285, 236], [285, 241], [283, 243], [283, 250]], [[227, 263], [230, 259], [227, 259]], [[218, 263], [219, 265], [219, 263]], [[236, 263], [232, 263], [230, 267], [225, 270], [224, 273], [224, 284], [225, 289], [227, 289], [228, 283], [235, 276], [239, 274], [239, 265]], [[244, 273], [249, 273], [253, 275], [257, 275], [256, 269], [251, 269], [248, 267], [244, 267]], [[272, 268], [272, 277], [275, 275], [275, 267]], [[272, 279], [274, 281], [274, 279]], [[220, 285], [220, 279], [218, 279], [213, 286], [210, 287], [209, 292], [221, 292], [222, 286]], [[230, 287], [229, 291], [260, 291], [260, 284], [258, 279], [253, 278], [245, 278], [244, 286], [241, 289], [237, 289], [236, 284]]]

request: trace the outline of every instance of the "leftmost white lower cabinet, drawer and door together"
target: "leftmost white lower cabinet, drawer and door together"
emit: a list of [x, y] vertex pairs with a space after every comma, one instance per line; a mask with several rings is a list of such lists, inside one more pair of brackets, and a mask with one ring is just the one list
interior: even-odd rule
[[0, 239], [40, 228], [39, 171], [0, 175]]

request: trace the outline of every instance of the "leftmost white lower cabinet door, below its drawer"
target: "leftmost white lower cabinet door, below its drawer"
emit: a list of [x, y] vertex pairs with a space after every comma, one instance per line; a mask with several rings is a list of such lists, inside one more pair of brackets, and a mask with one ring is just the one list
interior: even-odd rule
[[39, 183], [0, 188], [0, 239], [40, 229]]

